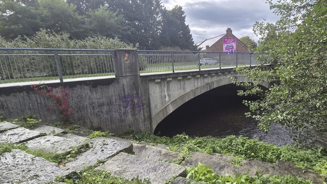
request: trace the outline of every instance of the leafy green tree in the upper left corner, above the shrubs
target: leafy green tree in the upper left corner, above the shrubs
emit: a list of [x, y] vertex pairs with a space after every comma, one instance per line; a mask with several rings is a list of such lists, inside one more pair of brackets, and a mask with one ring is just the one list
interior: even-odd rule
[[76, 38], [87, 34], [84, 17], [63, 0], [4, 0], [0, 5], [0, 36], [7, 39], [31, 37], [40, 29], [67, 32]]

